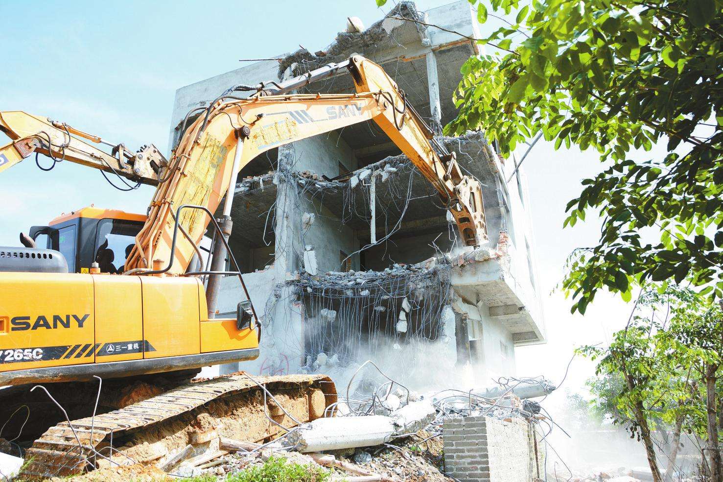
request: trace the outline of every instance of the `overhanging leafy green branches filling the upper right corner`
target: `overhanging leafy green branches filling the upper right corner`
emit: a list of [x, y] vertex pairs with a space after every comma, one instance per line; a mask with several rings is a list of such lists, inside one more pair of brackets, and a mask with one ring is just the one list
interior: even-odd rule
[[504, 156], [541, 134], [607, 166], [568, 204], [565, 225], [603, 216], [598, 244], [570, 258], [573, 311], [600, 288], [629, 300], [634, 283], [667, 279], [722, 297], [722, 1], [470, 1], [480, 22], [510, 21], [479, 41], [498, 53], [464, 64], [446, 132], [482, 129]]

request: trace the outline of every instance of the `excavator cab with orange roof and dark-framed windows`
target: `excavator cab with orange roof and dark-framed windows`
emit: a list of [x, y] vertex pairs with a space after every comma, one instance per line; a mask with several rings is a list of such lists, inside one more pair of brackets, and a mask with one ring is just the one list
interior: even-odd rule
[[[60, 252], [71, 273], [120, 274], [146, 216], [93, 206], [58, 216], [48, 226], [30, 228], [35, 247]], [[30, 247], [28, 247], [30, 248]]]

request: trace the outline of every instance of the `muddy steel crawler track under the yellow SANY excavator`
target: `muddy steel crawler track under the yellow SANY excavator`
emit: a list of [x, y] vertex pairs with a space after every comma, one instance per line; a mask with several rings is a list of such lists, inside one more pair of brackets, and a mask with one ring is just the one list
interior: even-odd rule
[[[293, 418], [280, 413], [279, 407], [274, 407], [270, 398], [266, 399], [265, 391], [260, 386], [264, 386], [268, 393], [278, 399], [282, 398], [280, 394], [283, 392], [293, 393], [296, 399], [301, 399], [301, 404], [296, 404], [299, 407], [296, 407]], [[119, 459], [118, 447], [126, 443], [132, 434], [158, 428], [184, 414], [197, 417], [200, 413], [208, 412], [210, 405], [220, 399], [230, 400], [232, 409], [236, 408], [234, 400], [238, 400], [238, 404], [261, 400], [262, 415], [265, 418], [275, 415], [273, 418], [281, 420], [275, 423], [270, 423], [270, 420], [268, 424], [244, 434], [249, 441], [260, 441], [283, 431], [279, 427], [281, 425], [291, 428], [295, 425], [292, 421], [294, 419], [303, 423], [322, 416], [325, 407], [336, 401], [336, 389], [333, 381], [324, 375], [259, 376], [252, 379], [244, 373], [237, 373], [192, 382], [120, 410], [59, 423], [49, 428], [40, 439], [35, 440], [33, 447], [27, 449], [25, 460], [28, 462], [20, 477], [32, 480], [64, 477], [93, 470], [103, 463], [101, 461], [106, 461], [106, 464], [116, 463], [108, 461]], [[284, 407], [281, 409], [286, 412]], [[219, 433], [223, 432], [220, 426], [218, 430]], [[226, 428], [227, 433], [233, 430]], [[160, 433], [162, 430], [158, 428], [155, 431]], [[236, 431], [238, 436], [237, 428]], [[155, 440], [159, 443], [163, 441], [161, 436]], [[182, 443], [185, 444], [185, 441]], [[111, 454], [114, 450], [116, 452]], [[130, 459], [121, 454], [121, 460], [123, 457]]]

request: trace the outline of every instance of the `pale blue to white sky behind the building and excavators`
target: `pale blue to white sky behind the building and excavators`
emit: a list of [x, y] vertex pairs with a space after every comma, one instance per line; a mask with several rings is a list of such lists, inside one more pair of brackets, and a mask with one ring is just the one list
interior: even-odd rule
[[[419, 9], [446, 3], [417, 1]], [[383, 12], [374, 0], [0, 1], [0, 110], [25, 110], [132, 149], [155, 143], [166, 152], [177, 88], [236, 69], [241, 58], [294, 51], [299, 41], [315, 51], [345, 28], [346, 17], [368, 26]], [[559, 381], [573, 347], [603, 342], [627, 318], [628, 308], [610, 297], [598, 297], [583, 320], [570, 316], [560, 293], [549, 294], [570, 251], [596, 240], [591, 216], [564, 231], [562, 221], [581, 179], [600, 167], [596, 153], [555, 152], [543, 141], [525, 161], [550, 342], [517, 350], [520, 374], [542, 370]], [[42, 172], [32, 158], [1, 174], [0, 192], [0, 245], [17, 245], [21, 230], [90, 203], [145, 212], [153, 194], [148, 187], [121, 193], [99, 172], [70, 163]], [[589, 364], [576, 362], [573, 386], [590, 375]]]

